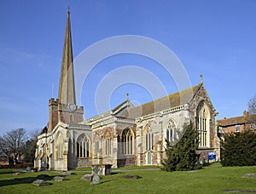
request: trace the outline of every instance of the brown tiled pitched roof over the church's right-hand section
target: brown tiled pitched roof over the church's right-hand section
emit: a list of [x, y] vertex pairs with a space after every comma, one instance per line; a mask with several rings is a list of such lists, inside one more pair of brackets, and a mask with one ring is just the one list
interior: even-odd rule
[[146, 104], [143, 104], [142, 106], [131, 108], [129, 111], [129, 116], [127, 117], [142, 117], [154, 112], [163, 111], [175, 106], [180, 106], [189, 103], [189, 101], [192, 100], [193, 96], [200, 87], [201, 84], [195, 85], [191, 88], [187, 88], [177, 93], [167, 95], [158, 100], [150, 101]]

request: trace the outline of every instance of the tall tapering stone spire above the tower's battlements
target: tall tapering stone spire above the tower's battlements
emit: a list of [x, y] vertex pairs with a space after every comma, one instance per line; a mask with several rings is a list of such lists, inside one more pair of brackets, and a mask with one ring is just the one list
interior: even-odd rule
[[67, 10], [67, 26], [61, 62], [61, 77], [58, 99], [61, 104], [76, 104], [69, 7]]

